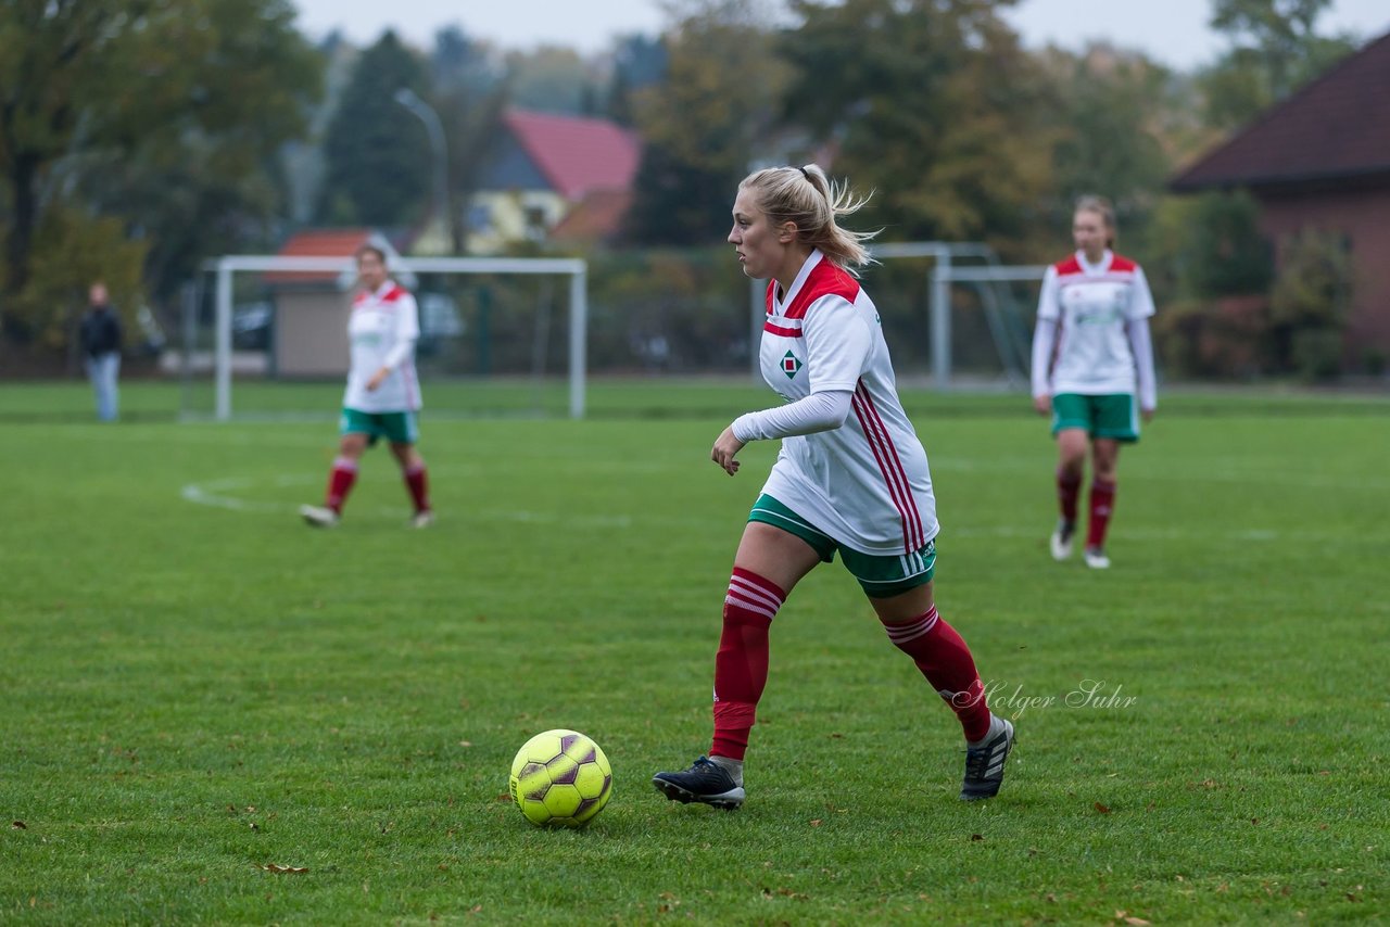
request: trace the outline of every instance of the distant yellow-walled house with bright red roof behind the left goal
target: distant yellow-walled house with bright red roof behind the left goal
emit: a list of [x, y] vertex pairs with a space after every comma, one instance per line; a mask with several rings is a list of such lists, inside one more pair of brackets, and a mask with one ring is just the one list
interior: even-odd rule
[[617, 231], [641, 158], [634, 132], [609, 120], [530, 110], [507, 110], [502, 132], [468, 213], [473, 253], [548, 240], [575, 213], [585, 218], [575, 217], [571, 239]]

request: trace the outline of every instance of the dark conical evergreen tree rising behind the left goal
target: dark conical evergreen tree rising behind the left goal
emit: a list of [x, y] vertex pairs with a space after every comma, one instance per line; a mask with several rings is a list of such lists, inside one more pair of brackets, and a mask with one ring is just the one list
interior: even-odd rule
[[427, 211], [432, 153], [420, 120], [396, 101], [402, 89], [428, 93], [420, 60], [388, 31], [357, 60], [328, 124], [320, 221], [399, 227]]

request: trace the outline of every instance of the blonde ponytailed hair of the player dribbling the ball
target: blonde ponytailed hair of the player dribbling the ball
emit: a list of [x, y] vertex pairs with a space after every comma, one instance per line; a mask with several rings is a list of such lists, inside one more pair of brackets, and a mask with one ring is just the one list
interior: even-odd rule
[[831, 182], [816, 164], [753, 171], [738, 189], [753, 192], [773, 227], [794, 224], [798, 242], [820, 249], [851, 274], [876, 263], [865, 242], [878, 232], [851, 232], [837, 222], [841, 215], [858, 211], [869, 197], [856, 196], [848, 183]]

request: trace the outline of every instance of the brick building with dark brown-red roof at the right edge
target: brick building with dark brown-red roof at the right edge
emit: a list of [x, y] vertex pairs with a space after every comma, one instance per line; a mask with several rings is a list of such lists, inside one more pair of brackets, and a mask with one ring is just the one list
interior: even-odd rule
[[1250, 190], [1261, 231], [1276, 243], [1309, 228], [1346, 236], [1354, 265], [1347, 360], [1390, 357], [1390, 35], [1268, 110], [1169, 188]]

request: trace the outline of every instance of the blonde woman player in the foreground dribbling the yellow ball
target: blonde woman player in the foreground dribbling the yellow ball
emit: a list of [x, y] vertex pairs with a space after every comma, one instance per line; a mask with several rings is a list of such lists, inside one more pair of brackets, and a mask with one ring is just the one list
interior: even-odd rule
[[888, 639], [959, 717], [967, 742], [960, 798], [990, 798], [1004, 781], [1013, 725], [990, 714], [969, 648], [933, 603], [937, 517], [927, 454], [898, 400], [878, 313], [848, 272], [869, 261], [862, 242], [870, 235], [835, 220], [862, 204], [816, 165], [767, 168], [738, 188], [728, 240], [744, 274], [770, 278], [762, 370], [788, 404], [739, 416], [710, 453], [733, 475], [746, 442], [783, 439], [734, 555], [709, 757], [652, 780], [678, 802], [742, 805], [773, 616], [835, 552]]

